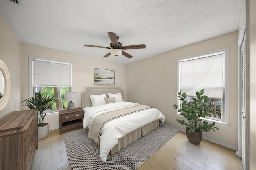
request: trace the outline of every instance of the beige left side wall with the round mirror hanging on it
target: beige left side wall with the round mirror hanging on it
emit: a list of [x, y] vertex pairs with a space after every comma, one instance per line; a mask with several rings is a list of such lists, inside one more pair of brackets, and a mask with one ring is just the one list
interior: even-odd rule
[[21, 94], [21, 72], [20, 72], [20, 51], [21, 42], [11, 30], [8, 23], [0, 14], [0, 59], [4, 61], [8, 67], [11, 79], [10, 99], [4, 110], [0, 113], [0, 118], [4, 117], [12, 111], [20, 110], [20, 94]]

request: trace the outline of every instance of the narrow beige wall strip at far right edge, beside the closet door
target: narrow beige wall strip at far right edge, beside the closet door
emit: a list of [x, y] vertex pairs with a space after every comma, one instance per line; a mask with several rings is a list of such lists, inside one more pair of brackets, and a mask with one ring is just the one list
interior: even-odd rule
[[[249, 169], [256, 168], [256, 1], [248, 2], [248, 63], [249, 63]], [[248, 119], [249, 118], [249, 119]]]

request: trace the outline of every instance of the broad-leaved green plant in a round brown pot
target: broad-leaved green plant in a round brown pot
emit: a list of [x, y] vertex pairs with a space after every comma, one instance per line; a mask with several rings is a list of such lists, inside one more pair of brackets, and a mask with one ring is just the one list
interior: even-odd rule
[[[196, 97], [192, 97], [193, 101], [187, 103], [186, 102], [186, 93], [178, 92], [179, 100], [182, 101], [182, 106], [178, 110], [180, 112], [180, 115], [182, 115], [185, 120], [176, 119], [178, 123], [181, 125], [186, 125], [186, 134], [188, 140], [192, 144], [199, 144], [202, 140], [202, 131], [204, 132], [210, 132], [214, 129], [219, 130], [217, 127], [215, 127], [215, 122], [208, 123], [207, 121], [203, 121], [201, 118], [205, 118], [206, 116], [209, 116], [210, 112], [212, 112], [212, 109], [210, 108], [210, 105], [207, 105], [208, 102], [212, 102], [208, 100], [208, 97], [204, 94], [204, 90], [201, 90], [200, 92], [196, 92]], [[178, 105], [173, 106], [174, 109], [178, 109]]]

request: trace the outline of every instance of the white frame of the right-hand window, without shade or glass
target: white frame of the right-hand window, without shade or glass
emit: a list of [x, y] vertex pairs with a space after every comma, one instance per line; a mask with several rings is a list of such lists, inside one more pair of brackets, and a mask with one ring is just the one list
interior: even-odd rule
[[[218, 54], [224, 54], [224, 87], [223, 87], [223, 98], [222, 98], [222, 114], [223, 114], [223, 119], [219, 119], [219, 118], [214, 118], [214, 117], [206, 117], [206, 118], [202, 118], [202, 121], [206, 120], [209, 123], [215, 122], [216, 125], [221, 125], [221, 126], [225, 126], [228, 127], [229, 126], [229, 95], [228, 95], [228, 91], [229, 91], [229, 48], [224, 48], [224, 49], [218, 49], [215, 51], [210, 51], [210, 52], [206, 52], [206, 53], [200, 53], [200, 54], [196, 54], [196, 55], [191, 55], [188, 57], [182, 57], [182, 58], [178, 58], [177, 59], [177, 91], [180, 91], [180, 63], [182, 61], [189, 61], [189, 60], [195, 60], [195, 59], [200, 59], [200, 58], [204, 58], [204, 57], [210, 57], [213, 55], [218, 55]], [[178, 94], [176, 94], [176, 99], [177, 99], [177, 103], [180, 103], [180, 100], [178, 98]], [[180, 115], [180, 113], [176, 113], [177, 116], [182, 117], [182, 115]]]

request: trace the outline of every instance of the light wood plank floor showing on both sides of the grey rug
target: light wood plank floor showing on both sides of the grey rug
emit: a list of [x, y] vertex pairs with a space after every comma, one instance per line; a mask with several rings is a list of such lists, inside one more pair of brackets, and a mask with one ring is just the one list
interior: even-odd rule
[[[74, 129], [78, 130], [78, 129]], [[70, 130], [66, 133], [69, 133]], [[38, 141], [32, 170], [70, 170], [68, 156], [59, 130], [51, 130]], [[178, 132], [139, 170], [242, 170], [242, 161], [232, 149], [202, 140], [199, 145], [188, 142], [186, 134]]]

